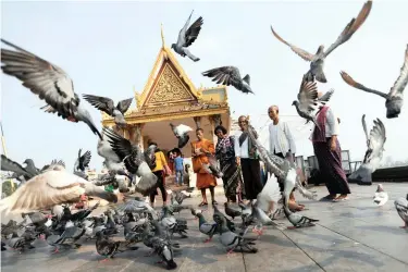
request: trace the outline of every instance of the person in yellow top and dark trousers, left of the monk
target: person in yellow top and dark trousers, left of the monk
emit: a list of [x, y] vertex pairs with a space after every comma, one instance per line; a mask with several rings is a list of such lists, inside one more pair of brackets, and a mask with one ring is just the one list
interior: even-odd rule
[[[158, 187], [161, 191], [161, 197], [163, 198], [163, 206], [166, 205], [168, 200], [168, 193], [165, 191], [164, 188], [164, 178], [165, 178], [165, 173], [164, 171], [168, 172], [168, 174], [171, 174], [171, 171], [168, 165], [168, 161], [165, 160], [164, 153], [159, 149], [158, 144], [150, 141], [149, 146], [154, 145], [156, 146], [156, 168], [151, 170], [153, 174], [158, 177]], [[156, 195], [158, 195], [158, 190], [156, 189], [154, 191], [150, 193], [150, 206], [153, 207], [154, 205], [154, 198]]]

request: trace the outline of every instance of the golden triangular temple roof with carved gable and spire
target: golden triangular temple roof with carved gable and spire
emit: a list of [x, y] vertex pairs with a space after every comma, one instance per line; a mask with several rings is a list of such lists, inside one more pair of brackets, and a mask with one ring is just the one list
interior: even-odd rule
[[[161, 40], [162, 46], [143, 91], [134, 90], [136, 109], [124, 114], [126, 122], [140, 123], [141, 120], [169, 118], [169, 114], [187, 116], [198, 115], [198, 112], [202, 115], [220, 110], [228, 112], [226, 86], [196, 88], [172, 49], [165, 46], [162, 26]], [[106, 113], [102, 113], [102, 120], [103, 124], [113, 122]]]

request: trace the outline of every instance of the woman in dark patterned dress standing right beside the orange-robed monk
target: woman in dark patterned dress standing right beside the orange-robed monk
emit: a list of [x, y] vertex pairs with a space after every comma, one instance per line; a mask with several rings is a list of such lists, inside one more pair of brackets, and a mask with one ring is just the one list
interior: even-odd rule
[[219, 138], [215, 146], [215, 157], [220, 161], [222, 181], [224, 185], [224, 194], [227, 202], [236, 202], [236, 195], [240, 201], [240, 171], [235, 159], [234, 137], [227, 135], [227, 131], [222, 125], [214, 129], [214, 134]]

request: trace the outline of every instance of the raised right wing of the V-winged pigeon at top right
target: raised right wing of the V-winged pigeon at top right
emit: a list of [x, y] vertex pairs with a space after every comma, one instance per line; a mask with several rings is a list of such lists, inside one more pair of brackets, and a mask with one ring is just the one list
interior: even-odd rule
[[372, 7], [372, 0], [367, 1], [360, 13], [357, 17], [351, 18], [351, 21], [346, 25], [343, 29], [342, 34], [337, 37], [336, 41], [329, 47], [329, 49], [324, 52], [324, 57], [327, 57], [334, 49], [336, 49], [339, 45], [343, 45], [347, 40], [351, 38], [351, 36], [357, 32], [358, 28], [366, 22], [367, 17], [370, 14]]

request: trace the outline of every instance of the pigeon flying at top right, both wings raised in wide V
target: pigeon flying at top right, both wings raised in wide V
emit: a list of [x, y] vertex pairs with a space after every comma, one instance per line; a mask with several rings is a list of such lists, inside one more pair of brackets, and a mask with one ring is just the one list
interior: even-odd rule
[[310, 70], [306, 74], [306, 81], [313, 82], [314, 78], [320, 83], [327, 83], [327, 79], [324, 75], [324, 61], [325, 58], [338, 46], [346, 42], [351, 38], [351, 36], [357, 32], [357, 29], [366, 22], [367, 17], [370, 14], [372, 7], [372, 0], [367, 1], [357, 15], [354, 17], [347, 26], [343, 29], [342, 34], [337, 37], [336, 41], [330, 46], [327, 50], [324, 51], [324, 46], [320, 46], [316, 54], [309, 53], [308, 51], [300, 49], [286, 40], [284, 40], [271, 26], [272, 34], [277, 38], [280, 41], [285, 44], [286, 46], [290, 47], [292, 51], [298, 54], [305, 61], [310, 62]]

